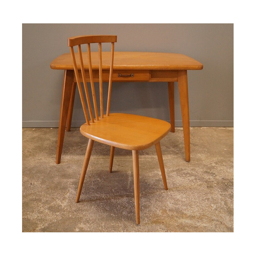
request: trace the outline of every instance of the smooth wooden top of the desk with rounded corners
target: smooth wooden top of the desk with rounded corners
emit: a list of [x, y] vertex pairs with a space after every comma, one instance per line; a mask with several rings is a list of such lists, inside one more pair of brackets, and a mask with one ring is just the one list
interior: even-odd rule
[[[79, 63], [78, 53], [76, 60]], [[88, 68], [87, 53], [83, 52], [84, 68]], [[109, 69], [110, 52], [102, 52], [102, 69]], [[52, 69], [74, 69], [70, 53], [64, 53], [50, 64]], [[78, 69], [81, 67], [77, 66]], [[92, 68], [99, 68], [98, 52], [92, 52]], [[113, 69], [136, 70], [200, 70], [203, 64], [186, 55], [165, 52], [115, 52]]]

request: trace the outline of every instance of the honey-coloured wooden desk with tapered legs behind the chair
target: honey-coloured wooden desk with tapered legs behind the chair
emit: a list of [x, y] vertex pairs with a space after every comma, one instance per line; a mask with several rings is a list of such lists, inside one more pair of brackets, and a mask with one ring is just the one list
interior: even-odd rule
[[[87, 53], [83, 53], [87, 54]], [[103, 81], [108, 80], [110, 52], [102, 52]], [[78, 59], [78, 57], [77, 57]], [[84, 58], [87, 60], [87, 57]], [[92, 52], [93, 73], [95, 82], [99, 81], [98, 52]], [[76, 91], [76, 78], [70, 53], [57, 57], [51, 63], [52, 69], [63, 69], [63, 89], [60, 106], [60, 123], [57, 143], [56, 164], [60, 163], [65, 128], [70, 131], [74, 97]], [[78, 66], [78, 69], [81, 68]], [[88, 68], [88, 63], [84, 63]], [[188, 108], [188, 79], [187, 70], [200, 70], [203, 65], [186, 55], [161, 52], [115, 52], [113, 82], [168, 82], [170, 120], [174, 132], [174, 82], [178, 82], [180, 92], [180, 107], [183, 124], [185, 159], [190, 161], [190, 131]], [[89, 72], [87, 71], [88, 82]], [[82, 78], [81, 78], [82, 81]]]

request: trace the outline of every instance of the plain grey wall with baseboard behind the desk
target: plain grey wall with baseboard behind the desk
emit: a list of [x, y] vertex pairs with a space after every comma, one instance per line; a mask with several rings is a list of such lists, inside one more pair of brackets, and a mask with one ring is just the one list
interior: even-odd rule
[[[190, 126], [233, 127], [233, 24], [23, 24], [22, 126], [58, 127], [62, 70], [50, 63], [69, 52], [67, 38], [115, 34], [115, 51], [175, 52], [200, 61], [188, 70]], [[170, 120], [167, 83], [114, 83], [111, 112]], [[78, 92], [72, 126], [84, 123]], [[182, 126], [175, 83], [175, 125]]]

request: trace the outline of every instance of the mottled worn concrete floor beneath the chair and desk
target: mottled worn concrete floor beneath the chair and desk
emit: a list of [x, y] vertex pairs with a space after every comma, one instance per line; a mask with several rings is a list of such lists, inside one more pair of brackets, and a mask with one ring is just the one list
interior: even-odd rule
[[22, 129], [23, 232], [233, 232], [233, 128], [190, 128], [191, 161], [183, 131], [162, 141], [168, 190], [155, 147], [140, 151], [140, 225], [135, 224], [132, 152], [94, 143], [80, 202], [76, 190], [87, 141], [66, 132], [55, 164], [57, 128]]

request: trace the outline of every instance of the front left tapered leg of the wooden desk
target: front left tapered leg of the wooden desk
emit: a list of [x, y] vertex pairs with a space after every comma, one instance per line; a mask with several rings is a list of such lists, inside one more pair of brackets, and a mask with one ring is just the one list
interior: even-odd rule
[[58, 142], [57, 142], [56, 164], [60, 164], [73, 81], [74, 81], [74, 70], [65, 70], [64, 78], [63, 78], [61, 105], [60, 105], [60, 122], [59, 122], [59, 133], [58, 133]]

